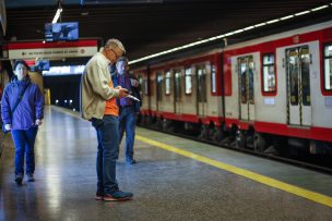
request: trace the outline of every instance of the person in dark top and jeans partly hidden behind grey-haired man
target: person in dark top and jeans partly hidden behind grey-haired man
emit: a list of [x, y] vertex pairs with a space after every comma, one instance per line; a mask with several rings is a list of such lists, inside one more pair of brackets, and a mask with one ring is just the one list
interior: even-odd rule
[[[117, 64], [117, 78], [118, 84], [130, 91], [135, 97], [139, 97], [139, 81], [132, 75], [129, 74], [128, 59], [121, 57]], [[119, 115], [119, 133], [120, 133], [120, 143], [122, 140], [124, 131], [126, 131], [126, 143], [124, 143], [124, 155], [126, 161], [129, 164], [134, 164], [137, 161], [133, 159], [133, 145], [134, 145], [134, 135], [135, 135], [135, 125], [137, 125], [137, 112], [140, 111], [140, 102], [131, 98], [120, 98], [118, 101], [120, 108]]]

